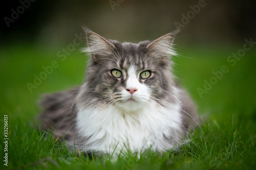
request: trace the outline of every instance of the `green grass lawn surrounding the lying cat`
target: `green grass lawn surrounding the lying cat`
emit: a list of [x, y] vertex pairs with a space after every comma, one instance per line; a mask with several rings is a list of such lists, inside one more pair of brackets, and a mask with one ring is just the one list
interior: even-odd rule
[[[175, 74], [188, 89], [198, 105], [200, 115], [206, 117], [200, 129], [191, 136], [189, 144], [180, 152], [166, 152], [162, 156], [150, 151], [119, 157], [116, 162], [109, 156], [89, 158], [72, 154], [59, 139], [40, 132], [36, 116], [41, 111], [37, 102], [41, 93], [64, 90], [81, 84], [87, 57], [72, 53], [61, 61], [54, 49], [28, 46], [26, 43], [9, 45], [0, 50], [1, 71], [1, 129], [4, 114], [8, 114], [9, 142], [8, 168], [10, 169], [254, 169], [256, 166], [256, 47], [231, 66], [227, 57], [240, 46], [208, 48], [179, 47], [175, 58]], [[192, 59], [190, 59], [192, 58]], [[27, 82], [43, 71], [53, 60], [59, 64], [32, 93]], [[204, 80], [209, 81], [212, 71], [226, 65], [229, 71], [207, 93], [198, 94]], [[0, 134], [0, 153], [3, 160], [4, 136]], [[7, 168], [3, 161], [1, 169]]]

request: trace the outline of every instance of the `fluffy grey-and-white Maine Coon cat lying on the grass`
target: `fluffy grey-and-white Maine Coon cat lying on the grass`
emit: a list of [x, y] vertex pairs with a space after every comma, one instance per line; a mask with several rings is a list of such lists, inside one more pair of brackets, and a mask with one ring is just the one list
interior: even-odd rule
[[[86, 29], [91, 54], [84, 83], [48, 94], [41, 126], [69, 145], [112, 154], [175, 149], [196, 127], [198, 115], [178, 87], [169, 57], [174, 34], [137, 44], [105, 39]], [[176, 145], [175, 145], [176, 144]]]

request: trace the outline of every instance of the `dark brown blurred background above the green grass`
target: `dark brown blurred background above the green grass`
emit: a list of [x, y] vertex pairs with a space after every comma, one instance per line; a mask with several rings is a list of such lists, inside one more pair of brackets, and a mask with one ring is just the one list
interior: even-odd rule
[[[28, 2], [29, 0], [22, 0]], [[31, 0], [32, 1], [32, 0]], [[34, 0], [33, 0], [34, 1]], [[117, 0], [113, 2], [118, 3]], [[129, 1], [119, 0], [113, 8], [110, 1], [40, 1], [30, 2], [8, 27], [4, 17], [11, 18], [20, 1], [1, 5], [0, 43], [29, 42], [49, 47], [70, 43], [82, 25], [94, 32], [119, 41], [153, 40], [176, 29], [174, 22], [187, 16], [190, 6], [199, 1]], [[25, 3], [26, 4], [26, 3]], [[205, 0], [205, 7], [191, 19], [179, 34], [181, 44], [235, 44], [255, 37], [255, 3], [253, 1]]]

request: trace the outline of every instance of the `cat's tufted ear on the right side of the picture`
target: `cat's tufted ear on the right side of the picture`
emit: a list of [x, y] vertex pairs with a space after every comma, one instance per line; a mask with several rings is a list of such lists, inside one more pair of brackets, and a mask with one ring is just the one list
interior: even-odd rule
[[[157, 54], [158, 56], [176, 55], [172, 48], [174, 35], [169, 33], [156, 39], [146, 46], [150, 53]], [[163, 58], [165, 60], [165, 58]]]

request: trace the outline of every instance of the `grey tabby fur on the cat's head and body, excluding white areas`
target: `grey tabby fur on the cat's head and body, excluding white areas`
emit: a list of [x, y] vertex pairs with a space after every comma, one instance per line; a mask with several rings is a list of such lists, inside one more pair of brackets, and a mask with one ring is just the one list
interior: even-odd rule
[[[182, 128], [181, 136], [187, 133], [187, 129], [198, 126], [196, 107], [186, 91], [178, 87], [172, 74], [173, 63], [169, 57], [175, 54], [171, 48], [173, 34], [166, 34], [155, 41], [135, 44], [106, 40], [90, 30], [86, 30], [86, 33], [88, 47], [84, 51], [89, 52], [91, 58], [84, 83], [78, 89], [46, 95], [41, 102], [45, 110], [39, 115], [42, 129], [51, 130], [55, 126], [55, 137], [64, 136], [68, 141], [86, 142], [87, 139], [76, 133], [77, 106], [87, 108], [98, 105], [103, 108], [109, 104], [115, 105], [121, 97], [120, 90], [125, 88], [126, 78], [117, 80], [110, 71], [114, 68], [127, 71], [131, 65], [135, 65], [137, 70], [151, 70], [153, 76], [140, 80], [140, 83], [152, 89], [153, 100], [159, 105], [182, 103], [182, 126], [185, 129]], [[174, 86], [180, 89], [178, 95], [173, 91]], [[177, 141], [179, 139], [175, 140]], [[166, 138], [165, 142], [171, 141]]]

